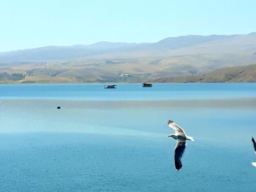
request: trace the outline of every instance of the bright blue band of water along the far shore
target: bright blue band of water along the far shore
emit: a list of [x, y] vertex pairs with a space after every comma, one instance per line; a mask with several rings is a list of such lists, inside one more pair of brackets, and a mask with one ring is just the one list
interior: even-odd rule
[[1, 85], [0, 98], [68, 98], [86, 100], [159, 100], [254, 97], [254, 83], [117, 84], [117, 89], [104, 85]]

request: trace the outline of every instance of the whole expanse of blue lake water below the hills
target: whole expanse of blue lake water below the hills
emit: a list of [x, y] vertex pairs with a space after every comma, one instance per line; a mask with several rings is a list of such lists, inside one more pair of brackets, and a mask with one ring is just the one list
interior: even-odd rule
[[255, 117], [254, 83], [1, 85], [0, 191], [253, 191]]

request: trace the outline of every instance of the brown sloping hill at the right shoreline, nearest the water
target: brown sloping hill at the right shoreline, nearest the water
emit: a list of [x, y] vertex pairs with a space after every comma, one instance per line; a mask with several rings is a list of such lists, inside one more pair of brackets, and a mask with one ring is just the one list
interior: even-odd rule
[[238, 83], [256, 82], [256, 64], [243, 67], [227, 67], [207, 74], [158, 78], [155, 83]]

